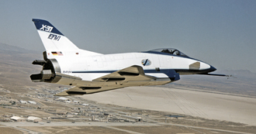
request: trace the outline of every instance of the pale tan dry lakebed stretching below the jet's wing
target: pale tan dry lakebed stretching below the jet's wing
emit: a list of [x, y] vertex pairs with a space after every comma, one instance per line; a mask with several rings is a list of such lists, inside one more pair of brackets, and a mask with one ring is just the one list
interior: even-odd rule
[[81, 96], [131, 108], [256, 125], [256, 98], [190, 88], [130, 87]]

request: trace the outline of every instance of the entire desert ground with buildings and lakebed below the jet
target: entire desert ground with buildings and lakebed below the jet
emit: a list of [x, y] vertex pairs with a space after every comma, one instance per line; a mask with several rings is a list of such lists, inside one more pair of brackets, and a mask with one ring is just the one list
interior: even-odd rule
[[30, 81], [40, 53], [0, 43], [0, 133], [256, 133], [248, 70], [60, 98], [71, 87]]

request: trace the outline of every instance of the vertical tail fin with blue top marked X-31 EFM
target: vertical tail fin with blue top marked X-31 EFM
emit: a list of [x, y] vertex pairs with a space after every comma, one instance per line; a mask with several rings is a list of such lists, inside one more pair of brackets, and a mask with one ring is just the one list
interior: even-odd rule
[[[75, 46], [70, 40], [67, 39], [56, 27], [50, 22], [43, 19], [32, 19], [35, 23], [37, 32], [43, 42], [43, 46], [47, 50], [48, 57], [63, 55], [65, 52], [70, 55], [71, 53], [78, 54], [80, 52], [83, 55], [96, 55], [100, 53], [94, 53], [87, 50], [80, 50], [78, 46]], [[73, 55], [73, 54], [72, 54]]]

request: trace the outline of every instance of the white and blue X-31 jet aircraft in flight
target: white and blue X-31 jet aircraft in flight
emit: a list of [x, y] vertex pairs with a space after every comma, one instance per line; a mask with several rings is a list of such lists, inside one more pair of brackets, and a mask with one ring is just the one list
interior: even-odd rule
[[205, 62], [170, 48], [115, 54], [81, 50], [50, 22], [43, 19], [32, 21], [46, 51], [43, 52], [43, 60], [34, 60], [32, 63], [43, 66], [43, 70], [40, 74], [32, 74], [30, 78], [34, 82], [74, 86], [56, 94], [58, 96], [168, 84], [178, 81], [179, 75], [208, 74], [216, 70]]

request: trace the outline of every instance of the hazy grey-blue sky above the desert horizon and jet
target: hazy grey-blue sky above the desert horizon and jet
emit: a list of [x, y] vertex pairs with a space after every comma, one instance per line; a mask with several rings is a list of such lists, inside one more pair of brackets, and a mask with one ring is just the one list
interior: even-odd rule
[[0, 1], [0, 43], [44, 50], [32, 19], [79, 48], [125, 53], [171, 47], [218, 70], [256, 72], [256, 1]]

